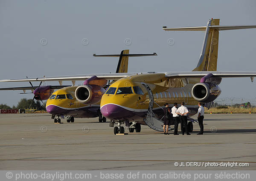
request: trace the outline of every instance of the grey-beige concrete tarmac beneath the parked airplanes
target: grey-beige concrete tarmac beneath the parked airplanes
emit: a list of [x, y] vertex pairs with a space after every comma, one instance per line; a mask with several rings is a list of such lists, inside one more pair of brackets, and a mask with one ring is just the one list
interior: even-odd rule
[[[255, 114], [205, 115], [204, 135], [196, 135], [198, 124], [192, 135], [163, 135], [148, 126], [114, 135], [109, 120], [61, 121], [54, 124], [49, 114], [1, 114], [0, 170], [256, 170]], [[201, 166], [186, 166], [190, 162]], [[249, 167], [205, 167], [221, 162]]]

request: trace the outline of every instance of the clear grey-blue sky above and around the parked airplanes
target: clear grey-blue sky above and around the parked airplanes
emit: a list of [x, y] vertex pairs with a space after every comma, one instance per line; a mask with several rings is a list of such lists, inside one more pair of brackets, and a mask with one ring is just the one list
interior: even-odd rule
[[[191, 71], [204, 32], [164, 32], [162, 26], [205, 26], [212, 17], [220, 18], [221, 25], [256, 25], [255, 9], [255, 0], [0, 0], [0, 79], [115, 72], [118, 58], [92, 55], [122, 49], [158, 54], [130, 58], [129, 72]], [[220, 32], [218, 70], [256, 71], [255, 34], [256, 29]], [[42, 38], [47, 45], [41, 45]], [[0, 83], [9, 86], [29, 83]], [[220, 86], [220, 97], [256, 100], [250, 78], [223, 79]], [[12, 106], [32, 98], [19, 92], [0, 92], [0, 103]]]

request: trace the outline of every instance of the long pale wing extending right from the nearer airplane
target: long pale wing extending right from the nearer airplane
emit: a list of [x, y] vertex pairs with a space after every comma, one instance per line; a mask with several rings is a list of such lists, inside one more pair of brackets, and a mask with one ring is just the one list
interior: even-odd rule
[[167, 78], [202, 78], [212, 73], [213, 77], [219, 78], [241, 78], [241, 77], [256, 77], [256, 72], [222, 72], [222, 71], [195, 71], [195, 72], [166, 72]]

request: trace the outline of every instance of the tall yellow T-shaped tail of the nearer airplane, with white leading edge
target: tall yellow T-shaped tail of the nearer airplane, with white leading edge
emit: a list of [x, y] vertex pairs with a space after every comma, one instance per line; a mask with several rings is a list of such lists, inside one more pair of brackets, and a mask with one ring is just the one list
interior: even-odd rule
[[216, 71], [218, 60], [218, 37], [220, 30], [232, 29], [250, 29], [256, 26], [219, 26], [220, 19], [210, 19], [207, 26], [183, 27], [183, 28], [167, 28], [163, 26], [165, 31], [205, 31], [202, 52], [198, 61], [198, 65], [192, 71]]

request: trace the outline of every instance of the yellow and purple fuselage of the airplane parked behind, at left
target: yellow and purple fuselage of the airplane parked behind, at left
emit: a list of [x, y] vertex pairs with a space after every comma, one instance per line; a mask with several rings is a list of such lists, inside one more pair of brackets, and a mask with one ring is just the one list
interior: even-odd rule
[[76, 100], [77, 86], [65, 87], [53, 92], [47, 100], [46, 110], [52, 115], [67, 115], [75, 118], [95, 118], [99, 116], [99, 103], [88, 105]]

